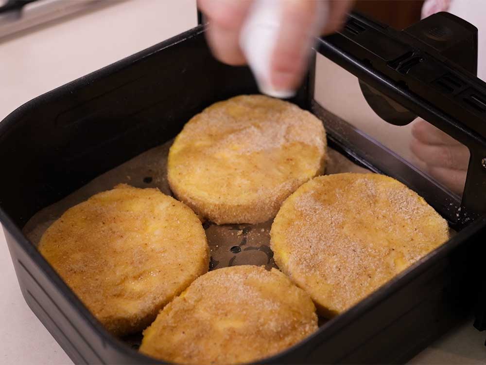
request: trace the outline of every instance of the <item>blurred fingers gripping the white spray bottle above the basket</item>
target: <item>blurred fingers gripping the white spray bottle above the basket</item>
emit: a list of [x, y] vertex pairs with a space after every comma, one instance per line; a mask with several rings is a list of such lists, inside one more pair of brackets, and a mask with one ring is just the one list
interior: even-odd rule
[[[296, 89], [306, 72], [309, 34], [317, 18], [319, 2], [327, 0], [281, 0], [283, 4], [277, 44], [271, 57], [271, 83], [279, 90]], [[243, 65], [240, 33], [252, 0], [198, 0], [209, 21], [206, 33], [214, 56], [230, 65]], [[329, 0], [328, 18], [322, 35], [337, 31], [343, 24], [352, 0]]]

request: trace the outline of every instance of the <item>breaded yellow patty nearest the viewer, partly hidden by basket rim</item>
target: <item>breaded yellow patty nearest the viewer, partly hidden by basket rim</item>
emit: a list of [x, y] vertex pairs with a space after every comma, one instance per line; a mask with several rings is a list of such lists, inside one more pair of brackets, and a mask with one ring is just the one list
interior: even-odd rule
[[277, 269], [243, 265], [196, 279], [143, 332], [140, 351], [179, 364], [275, 355], [317, 329], [309, 294]]

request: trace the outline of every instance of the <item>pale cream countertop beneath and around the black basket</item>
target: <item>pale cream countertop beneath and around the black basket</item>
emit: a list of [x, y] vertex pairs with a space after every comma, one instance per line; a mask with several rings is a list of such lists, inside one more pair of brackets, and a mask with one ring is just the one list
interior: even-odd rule
[[[195, 0], [110, 2], [7, 41], [0, 39], [0, 120], [35, 96], [197, 23]], [[0, 364], [72, 364], [25, 303], [1, 228], [0, 277]], [[466, 323], [412, 363], [486, 364], [485, 337]]]

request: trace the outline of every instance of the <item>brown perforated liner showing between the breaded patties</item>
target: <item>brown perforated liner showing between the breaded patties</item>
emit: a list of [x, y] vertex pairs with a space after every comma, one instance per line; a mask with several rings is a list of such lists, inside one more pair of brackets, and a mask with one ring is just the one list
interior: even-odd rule
[[[149, 149], [137, 157], [113, 168], [87, 183], [79, 190], [37, 212], [25, 225], [23, 232], [35, 245], [45, 230], [70, 207], [86, 201], [99, 192], [112, 189], [119, 183], [135, 187], [157, 187], [164, 194], [171, 195], [167, 181], [167, 157], [174, 140]], [[369, 172], [353, 164], [337, 151], [328, 148], [326, 174], [340, 172]], [[270, 249], [270, 228], [272, 220], [259, 224], [223, 224], [204, 222], [211, 251], [209, 270], [234, 265], [264, 265], [267, 269], [276, 267]], [[325, 319], [320, 319], [322, 324]], [[141, 334], [123, 339], [129, 346], [138, 348]]]

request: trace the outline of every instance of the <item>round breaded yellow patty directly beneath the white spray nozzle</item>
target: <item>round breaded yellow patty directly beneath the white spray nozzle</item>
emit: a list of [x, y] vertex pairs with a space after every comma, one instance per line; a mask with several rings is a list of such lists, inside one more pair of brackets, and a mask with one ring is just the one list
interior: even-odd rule
[[260, 223], [324, 171], [322, 122], [294, 104], [241, 95], [195, 115], [169, 152], [177, 198], [217, 223]]

